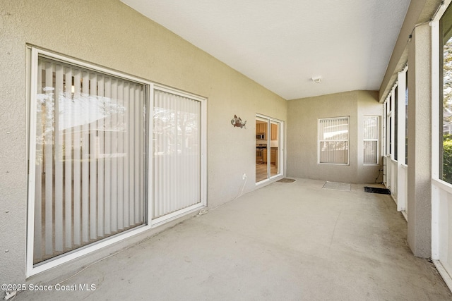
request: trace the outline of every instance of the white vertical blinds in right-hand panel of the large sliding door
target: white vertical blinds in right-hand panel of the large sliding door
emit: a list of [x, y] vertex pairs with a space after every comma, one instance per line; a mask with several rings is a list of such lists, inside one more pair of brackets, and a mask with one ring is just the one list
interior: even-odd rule
[[201, 102], [154, 91], [153, 219], [201, 202]]

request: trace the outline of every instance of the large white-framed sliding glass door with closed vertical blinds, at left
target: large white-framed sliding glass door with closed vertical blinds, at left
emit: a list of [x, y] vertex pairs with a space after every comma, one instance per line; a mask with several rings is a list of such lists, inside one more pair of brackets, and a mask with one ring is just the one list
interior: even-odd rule
[[30, 54], [28, 276], [206, 206], [207, 99]]

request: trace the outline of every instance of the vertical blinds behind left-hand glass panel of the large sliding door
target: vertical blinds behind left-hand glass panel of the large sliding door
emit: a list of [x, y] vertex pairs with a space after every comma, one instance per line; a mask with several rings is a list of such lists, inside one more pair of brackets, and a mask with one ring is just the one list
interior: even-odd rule
[[145, 223], [145, 94], [38, 59], [34, 264]]

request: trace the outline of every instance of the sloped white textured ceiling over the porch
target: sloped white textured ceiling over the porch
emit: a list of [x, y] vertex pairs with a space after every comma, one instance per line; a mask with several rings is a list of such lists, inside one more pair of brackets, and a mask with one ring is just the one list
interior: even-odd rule
[[[410, 0], [121, 1], [285, 99], [379, 90], [410, 4]], [[321, 83], [312, 82], [316, 76], [321, 76]]]

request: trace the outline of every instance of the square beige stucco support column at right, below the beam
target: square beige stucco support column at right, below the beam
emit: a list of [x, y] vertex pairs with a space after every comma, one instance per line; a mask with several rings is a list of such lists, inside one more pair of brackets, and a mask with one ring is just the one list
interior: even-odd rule
[[432, 256], [431, 28], [416, 27], [408, 45], [408, 245]]

